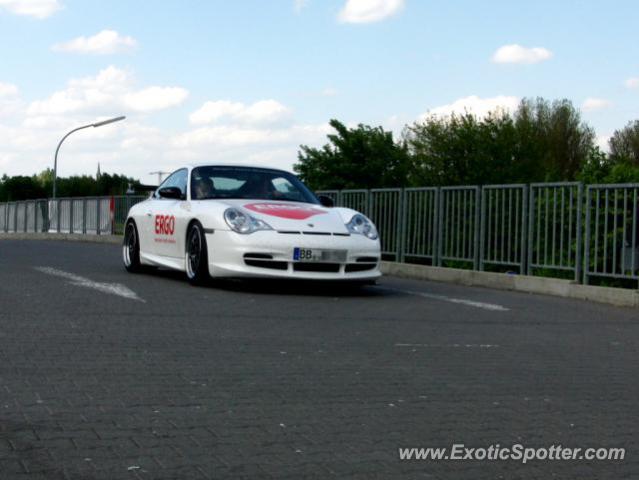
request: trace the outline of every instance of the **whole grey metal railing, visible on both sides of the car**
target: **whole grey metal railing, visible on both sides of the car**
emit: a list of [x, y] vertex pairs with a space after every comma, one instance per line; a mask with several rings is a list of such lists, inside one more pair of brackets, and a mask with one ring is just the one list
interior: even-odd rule
[[[639, 184], [330, 190], [369, 216], [385, 258], [443, 267], [639, 280]], [[0, 232], [122, 233], [145, 196], [0, 203]]]

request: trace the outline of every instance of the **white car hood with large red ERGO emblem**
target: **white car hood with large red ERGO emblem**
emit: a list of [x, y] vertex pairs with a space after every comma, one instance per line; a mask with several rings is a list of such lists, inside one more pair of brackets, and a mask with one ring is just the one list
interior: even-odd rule
[[274, 230], [348, 233], [339, 211], [321, 205], [276, 200], [223, 200], [221, 203], [242, 208]]

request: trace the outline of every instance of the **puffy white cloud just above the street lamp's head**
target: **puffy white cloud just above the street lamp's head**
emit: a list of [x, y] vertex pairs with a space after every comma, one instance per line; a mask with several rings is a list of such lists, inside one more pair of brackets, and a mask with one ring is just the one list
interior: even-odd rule
[[151, 112], [180, 105], [188, 91], [180, 87], [133, 88], [131, 75], [110, 66], [95, 77], [72, 79], [64, 90], [31, 102], [30, 116], [84, 112], [98, 115], [118, 111]]

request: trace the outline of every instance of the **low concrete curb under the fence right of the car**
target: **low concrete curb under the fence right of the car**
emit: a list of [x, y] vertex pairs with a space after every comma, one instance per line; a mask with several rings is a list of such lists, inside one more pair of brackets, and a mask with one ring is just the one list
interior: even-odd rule
[[589, 300], [617, 307], [639, 307], [639, 291], [625, 288], [579, 285], [570, 280], [556, 278], [507, 275], [505, 273], [476, 272], [456, 268], [429, 267], [407, 263], [382, 262], [384, 274], [414, 280], [432, 280], [498, 290], [552, 295], [556, 297]]

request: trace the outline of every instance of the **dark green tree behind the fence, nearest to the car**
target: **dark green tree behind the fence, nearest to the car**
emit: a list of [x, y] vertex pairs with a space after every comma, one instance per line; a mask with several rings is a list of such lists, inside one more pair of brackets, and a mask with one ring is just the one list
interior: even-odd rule
[[382, 127], [348, 128], [330, 121], [335, 134], [322, 148], [302, 145], [294, 169], [311, 188], [378, 188], [406, 184], [410, 157], [406, 147]]

